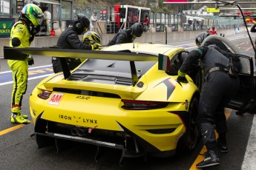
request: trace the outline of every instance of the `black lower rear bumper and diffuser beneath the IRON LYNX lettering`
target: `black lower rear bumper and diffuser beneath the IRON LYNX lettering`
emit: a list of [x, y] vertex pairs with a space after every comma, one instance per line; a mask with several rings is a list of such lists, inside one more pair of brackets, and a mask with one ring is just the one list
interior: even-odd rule
[[[76, 129], [76, 131], [74, 131]], [[77, 133], [78, 132], [78, 133]], [[70, 126], [39, 119], [35, 126], [36, 142], [39, 148], [56, 144], [58, 140], [71, 140], [79, 143], [88, 143], [95, 146], [104, 146], [121, 149], [123, 157], [138, 157], [138, 155], [154, 154], [168, 157], [175, 154], [174, 149], [161, 151], [148, 141], [124, 128], [124, 132], [102, 129], [90, 129], [79, 126]]]

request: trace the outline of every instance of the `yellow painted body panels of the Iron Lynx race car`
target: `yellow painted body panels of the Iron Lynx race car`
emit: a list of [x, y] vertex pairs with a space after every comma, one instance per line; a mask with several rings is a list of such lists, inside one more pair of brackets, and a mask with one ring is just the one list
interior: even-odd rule
[[[103, 49], [103, 51], [112, 50], [161, 53], [169, 57], [177, 52], [186, 51], [164, 44], [121, 44]], [[188, 112], [189, 103], [193, 95], [198, 92], [197, 86], [189, 76], [187, 76], [188, 84], [179, 84], [176, 79], [177, 76], [167, 75], [164, 71], [158, 70], [157, 64], [154, 64], [145, 75], [142, 75], [137, 82], [137, 84], [144, 84], [140, 87], [137, 84], [121, 86], [68, 81], [63, 78], [62, 73], [51, 75], [40, 82], [30, 95], [30, 113], [34, 123], [40, 116], [44, 120], [91, 129], [123, 132], [123, 126], [160, 151], [174, 150], [178, 140], [186, 132], [186, 126], [184, 126], [183, 120], [172, 112]], [[168, 96], [169, 84], [173, 91]], [[52, 92], [50, 98], [46, 100], [38, 97], [42, 89], [53, 91], [54, 87], [108, 92], [119, 95], [120, 98], [76, 95], [65, 92]], [[168, 106], [161, 109], [126, 110], [122, 109], [122, 99], [163, 101], [168, 102]], [[174, 131], [155, 134], [150, 132], [152, 129], [174, 129]]]

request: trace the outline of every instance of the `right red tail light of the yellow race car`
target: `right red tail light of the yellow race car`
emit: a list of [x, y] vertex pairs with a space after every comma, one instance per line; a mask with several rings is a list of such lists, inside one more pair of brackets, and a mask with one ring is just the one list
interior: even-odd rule
[[160, 109], [168, 105], [168, 102], [160, 101], [132, 101], [123, 99], [122, 102], [124, 103], [122, 109], [127, 110]]

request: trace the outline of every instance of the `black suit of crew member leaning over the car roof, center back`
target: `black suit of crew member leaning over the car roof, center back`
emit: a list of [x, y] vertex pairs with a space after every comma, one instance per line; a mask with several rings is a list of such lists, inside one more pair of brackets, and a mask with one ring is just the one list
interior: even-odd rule
[[108, 43], [107, 46], [111, 46], [114, 44], [124, 44], [124, 43], [131, 43], [134, 41], [133, 35], [131, 35], [131, 29], [128, 30], [121, 30], [117, 33], [114, 38]]

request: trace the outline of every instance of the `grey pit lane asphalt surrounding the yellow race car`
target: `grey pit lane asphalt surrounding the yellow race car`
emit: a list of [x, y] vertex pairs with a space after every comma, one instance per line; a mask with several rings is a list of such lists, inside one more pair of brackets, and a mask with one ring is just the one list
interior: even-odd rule
[[[240, 41], [236, 40], [235, 43], [238, 45], [245, 43], [243, 46], [240, 45], [240, 48], [246, 50], [249, 48], [246, 45], [247, 40], [240, 39]], [[188, 44], [186, 41], [177, 43]], [[193, 44], [194, 40], [189, 43]], [[49, 58], [43, 59], [37, 56], [34, 58], [35, 65], [33, 67], [50, 64]], [[1, 71], [10, 71], [6, 61], [1, 59], [0, 62]], [[28, 81], [27, 93], [23, 99], [23, 113], [29, 113], [27, 101], [30, 92], [41, 80], [42, 78]], [[11, 90], [12, 84], [0, 86], [0, 134], [4, 129], [17, 126], [17, 124], [10, 123]], [[249, 167], [245, 166], [246, 163], [243, 164], [245, 153], [249, 153], [246, 152], [246, 147], [248, 146], [253, 117], [254, 115], [251, 114], [237, 116], [234, 111], [232, 112], [228, 119], [229, 153], [220, 154], [221, 165], [210, 169], [256, 169], [253, 164], [250, 164]], [[73, 147], [57, 154], [54, 146], [38, 149], [34, 137], [30, 137], [32, 134], [33, 123], [30, 123], [12, 132], [0, 135], [0, 169], [190, 169], [203, 147], [203, 143], [200, 141], [194, 152], [179, 151], [174, 157], [168, 158], [148, 157], [147, 162], [144, 161], [143, 157], [124, 158], [122, 166], [120, 166], [121, 152], [119, 150], [103, 149], [102, 156], [96, 162], [94, 160], [96, 146], [74, 143]], [[253, 146], [255, 138], [250, 138], [249, 142]], [[255, 152], [255, 147], [250, 152]], [[249, 160], [256, 160], [255, 155], [246, 154], [246, 156], [249, 156], [246, 157], [247, 164]]]

